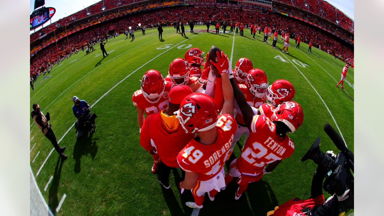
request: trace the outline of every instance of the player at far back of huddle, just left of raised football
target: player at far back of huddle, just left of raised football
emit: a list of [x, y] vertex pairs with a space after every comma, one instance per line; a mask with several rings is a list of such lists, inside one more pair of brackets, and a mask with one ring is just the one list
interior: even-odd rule
[[201, 76], [201, 66], [204, 65], [204, 52], [199, 48], [190, 48], [185, 52], [184, 58], [189, 63], [189, 75], [190, 76]]

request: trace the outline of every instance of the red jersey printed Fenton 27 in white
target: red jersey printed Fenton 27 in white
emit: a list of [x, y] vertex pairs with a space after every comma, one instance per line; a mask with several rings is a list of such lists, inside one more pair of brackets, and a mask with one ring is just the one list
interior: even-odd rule
[[295, 146], [285, 135], [284, 140], [277, 136], [275, 123], [263, 115], [252, 119], [251, 131], [241, 156], [237, 159], [240, 173], [256, 175], [263, 172], [266, 164], [283, 160], [292, 155]]

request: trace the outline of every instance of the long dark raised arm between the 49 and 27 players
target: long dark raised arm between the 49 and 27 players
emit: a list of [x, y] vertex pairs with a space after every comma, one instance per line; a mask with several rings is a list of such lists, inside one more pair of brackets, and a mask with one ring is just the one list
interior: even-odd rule
[[231, 78], [229, 81], [231, 82], [231, 85], [233, 88], [233, 96], [235, 97], [235, 100], [237, 101], [237, 104], [242, 112], [244, 123], [247, 126], [247, 128], [250, 129], [252, 118], [254, 115], [253, 110], [251, 106], [247, 103], [247, 100], [245, 99], [243, 92], [237, 86], [235, 78]]

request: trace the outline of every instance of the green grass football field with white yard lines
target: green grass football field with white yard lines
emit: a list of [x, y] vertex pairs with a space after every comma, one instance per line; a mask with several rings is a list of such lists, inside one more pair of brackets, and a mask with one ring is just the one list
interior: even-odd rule
[[[206, 30], [204, 26], [195, 26], [195, 30], [198, 29]], [[298, 50], [291, 39], [286, 54], [281, 53], [280, 41], [278, 50], [272, 49], [272, 40], [266, 45], [259, 34], [254, 40], [249, 29], [244, 31], [245, 37], [233, 33], [189, 33], [189, 29], [185, 32], [187, 37], [181, 37], [173, 27], [164, 28], [164, 40], [157, 39], [157, 29], [146, 30], [144, 36], [136, 32], [134, 41], [121, 35], [106, 43], [108, 57], [103, 58], [96, 45], [96, 50], [88, 55], [80, 50], [60, 66], [55, 65], [49, 78], [40, 76], [35, 91], [31, 90], [30, 105], [38, 102], [43, 113], [50, 112], [52, 129], [60, 146], [66, 146], [68, 155], [64, 162], [56, 151], [47, 158], [53, 146], [30, 118], [30, 125], [33, 123], [30, 166], [54, 214], [175, 216], [192, 213], [192, 209], [185, 206], [186, 201], [193, 201], [192, 194], [186, 191], [180, 196], [178, 190], [180, 169], [171, 172], [169, 190], [163, 189], [151, 173], [153, 159], [140, 146], [137, 113], [131, 100], [147, 70], [156, 69], [167, 75], [170, 62], [184, 57], [189, 47], [198, 47], [206, 53], [215, 45], [231, 56], [233, 68], [238, 58], [247, 57], [255, 68], [265, 71], [270, 84], [280, 78], [291, 81], [296, 89], [294, 100], [304, 110], [303, 125], [289, 135], [295, 143], [293, 155], [261, 181], [250, 184], [247, 193], [237, 201], [234, 182], [218, 193], [215, 201], [206, 198], [199, 215], [265, 216], [267, 211], [291, 198], [308, 198], [316, 164], [301, 162], [301, 157], [317, 136], [321, 137], [324, 152], [337, 151], [323, 131], [325, 123], [330, 123], [336, 131], [339, 128], [348, 148], [354, 151], [353, 68], [349, 68], [347, 74], [351, 85], [344, 82], [343, 91], [336, 88], [336, 84], [345, 64], [314, 47], [312, 53], [308, 53], [308, 45], [304, 43]], [[76, 119], [71, 109], [74, 95], [92, 105], [92, 111], [99, 116], [92, 138], [76, 141], [72, 127]], [[242, 142], [243, 139], [239, 143]], [[240, 151], [238, 144], [226, 164], [226, 171]], [[66, 197], [58, 209], [64, 194]]]

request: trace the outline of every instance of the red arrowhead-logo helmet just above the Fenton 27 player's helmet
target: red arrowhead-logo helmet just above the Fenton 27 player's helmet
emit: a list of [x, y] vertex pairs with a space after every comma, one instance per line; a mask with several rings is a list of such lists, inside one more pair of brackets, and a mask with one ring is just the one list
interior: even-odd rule
[[279, 105], [286, 101], [292, 101], [295, 96], [295, 88], [288, 80], [276, 80], [268, 86], [266, 93], [267, 103]]

